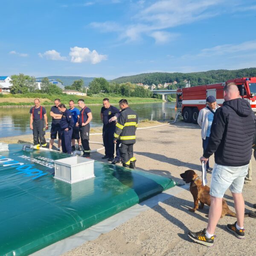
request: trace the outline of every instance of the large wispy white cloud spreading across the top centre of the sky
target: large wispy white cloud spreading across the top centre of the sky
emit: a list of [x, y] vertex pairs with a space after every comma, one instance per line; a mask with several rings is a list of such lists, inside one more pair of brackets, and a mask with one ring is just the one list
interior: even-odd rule
[[220, 7], [224, 4], [226, 0], [139, 0], [136, 2], [138, 11], [131, 17], [132, 23], [121, 26], [106, 21], [90, 25], [103, 32], [120, 32], [120, 38], [126, 42], [138, 41], [143, 35], [148, 35], [156, 43], [163, 44], [170, 38], [169, 31], [164, 30], [214, 17], [221, 13]]

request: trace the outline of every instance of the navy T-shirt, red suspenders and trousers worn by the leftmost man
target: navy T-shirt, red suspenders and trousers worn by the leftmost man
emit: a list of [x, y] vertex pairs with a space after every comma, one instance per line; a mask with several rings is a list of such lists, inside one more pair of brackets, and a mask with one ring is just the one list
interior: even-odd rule
[[44, 115], [46, 114], [46, 110], [42, 106], [39, 106], [39, 108], [33, 107], [30, 109], [29, 113], [32, 114], [32, 118], [33, 118], [32, 125], [33, 125], [34, 145], [40, 146], [40, 143], [39, 143], [39, 140], [40, 140], [41, 146], [46, 147], [47, 143], [44, 137], [45, 135]]

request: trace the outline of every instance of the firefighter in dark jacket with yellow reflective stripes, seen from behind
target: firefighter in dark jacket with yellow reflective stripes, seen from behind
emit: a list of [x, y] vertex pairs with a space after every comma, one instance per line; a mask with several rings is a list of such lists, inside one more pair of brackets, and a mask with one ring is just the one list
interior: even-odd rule
[[138, 126], [138, 116], [133, 111], [126, 99], [119, 101], [121, 113], [117, 119], [114, 133], [114, 143], [120, 141], [120, 154], [122, 165], [125, 167], [135, 168], [136, 158], [133, 156], [133, 145], [136, 142], [136, 129]]

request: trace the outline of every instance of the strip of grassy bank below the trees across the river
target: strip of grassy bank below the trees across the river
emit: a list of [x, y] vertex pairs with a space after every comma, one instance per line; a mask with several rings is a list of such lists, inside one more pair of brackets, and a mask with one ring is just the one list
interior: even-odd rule
[[[28, 94], [7, 94], [0, 96], [0, 107], [21, 107], [21, 106], [31, 106], [34, 105], [34, 99], [41, 99], [42, 105], [51, 106], [53, 104], [54, 99], [59, 98], [61, 102], [64, 104], [68, 104], [70, 99], [73, 99], [77, 102], [79, 99], [84, 99], [86, 105], [90, 104], [102, 104], [102, 99], [105, 96], [97, 96], [97, 97], [89, 97], [89, 96], [77, 96], [77, 95], [49, 95], [42, 93], [28, 93]], [[108, 97], [112, 104], [118, 103], [123, 96], [110, 96]], [[137, 98], [137, 97], [126, 97], [129, 103], [145, 103], [145, 102], [162, 102], [161, 99], [153, 99], [153, 98]]]

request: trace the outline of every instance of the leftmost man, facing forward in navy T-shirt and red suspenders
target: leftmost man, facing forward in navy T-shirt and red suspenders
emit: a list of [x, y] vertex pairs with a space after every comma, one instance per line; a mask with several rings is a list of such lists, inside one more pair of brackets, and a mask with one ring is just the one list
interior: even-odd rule
[[[30, 115], [30, 129], [33, 130], [33, 139], [34, 139], [34, 145], [35, 146], [41, 146], [46, 147], [47, 143], [45, 140], [45, 130], [48, 130], [48, 122], [47, 122], [47, 114], [44, 107], [40, 106], [40, 100], [35, 99], [34, 100], [35, 107], [31, 108], [29, 113]], [[44, 121], [45, 121], [45, 127], [44, 127]], [[39, 143], [39, 140], [40, 143]]]

